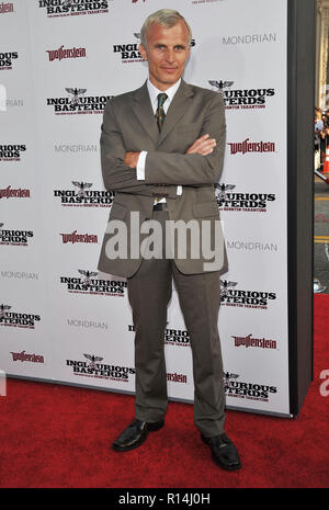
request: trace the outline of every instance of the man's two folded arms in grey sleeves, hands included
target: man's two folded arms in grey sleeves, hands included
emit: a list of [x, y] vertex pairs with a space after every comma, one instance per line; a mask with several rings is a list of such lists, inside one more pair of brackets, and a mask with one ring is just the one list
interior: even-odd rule
[[[226, 141], [225, 106], [220, 94], [209, 102], [202, 128], [203, 135], [185, 151], [147, 152], [145, 180], [137, 180], [139, 152], [125, 150], [113, 105], [106, 104], [101, 134], [103, 180], [106, 189], [154, 196], [167, 192], [175, 196], [177, 185], [202, 186], [218, 182]], [[166, 188], [166, 190], [164, 190]]]

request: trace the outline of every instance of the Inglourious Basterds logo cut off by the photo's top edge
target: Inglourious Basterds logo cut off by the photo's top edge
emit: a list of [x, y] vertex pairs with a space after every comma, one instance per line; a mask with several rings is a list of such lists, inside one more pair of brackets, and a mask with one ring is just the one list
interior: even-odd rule
[[48, 18], [105, 14], [113, 0], [38, 0]]

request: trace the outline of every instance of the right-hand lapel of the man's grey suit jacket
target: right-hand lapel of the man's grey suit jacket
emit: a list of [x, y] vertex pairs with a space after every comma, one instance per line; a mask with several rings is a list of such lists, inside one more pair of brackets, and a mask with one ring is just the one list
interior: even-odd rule
[[161, 134], [158, 139], [158, 146], [160, 146], [163, 143], [171, 129], [189, 110], [189, 107], [191, 106], [192, 97], [192, 86], [185, 83], [185, 81], [182, 80], [180, 88], [174, 94], [173, 100], [168, 109], [166, 121], [163, 123]]

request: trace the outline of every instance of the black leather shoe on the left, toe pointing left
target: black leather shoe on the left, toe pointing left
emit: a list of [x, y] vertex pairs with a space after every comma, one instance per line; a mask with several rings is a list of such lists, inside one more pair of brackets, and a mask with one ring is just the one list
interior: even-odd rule
[[149, 432], [155, 432], [163, 427], [164, 420], [152, 423], [135, 419], [114, 441], [113, 450], [127, 452], [144, 443]]

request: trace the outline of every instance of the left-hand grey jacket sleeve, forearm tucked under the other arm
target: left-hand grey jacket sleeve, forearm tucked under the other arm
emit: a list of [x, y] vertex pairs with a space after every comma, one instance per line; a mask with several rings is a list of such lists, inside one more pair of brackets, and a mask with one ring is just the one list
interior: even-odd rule
[[169, 196], [175, 197], [175, 186], [166, 186], [166, 189], [161, 186], [160, 190], [157, 185], [138, 181], [136, 169], [124, 162], [125, 152], [126, 149], [112, 101], [107, 101], [101, 127], [101, 163], [106, 190], [145, 196], [155, 196], [157, 192], [161, 191], [161, 193], [168, 193]]

